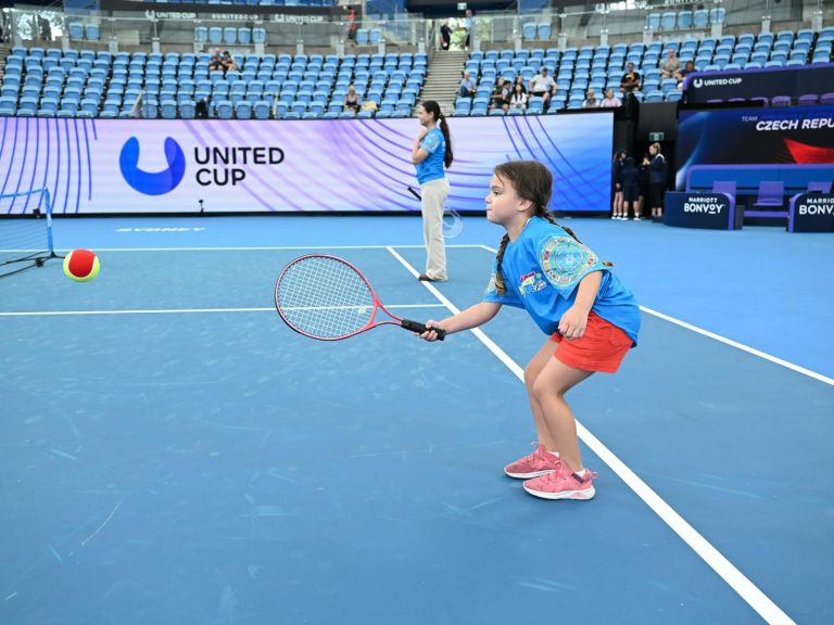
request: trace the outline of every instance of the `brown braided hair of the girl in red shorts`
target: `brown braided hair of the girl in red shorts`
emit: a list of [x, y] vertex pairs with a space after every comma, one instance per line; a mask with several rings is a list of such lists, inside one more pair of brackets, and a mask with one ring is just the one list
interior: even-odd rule
[[[509, 181], [516, 191], [516, 195], [521, 200], [527, 200], [533, 206], [531, 217], [541, 217], [551, 224], [558, 226], [565, 232], [570, 234], [578, 243], [582, 243], [573, 233], [573, 230], [561, 226], [556, 221], [556, 216], [547, 208], [553, 195], [553, 174], [549, 169], [536, 161], [509, 161], [502, 163], [494, 169], [495, 176]], [[504, 252], [509, 243], [509, 234], [504, 234], [498, 246], [496, 256], [497, 267], [495, 269], [495, 291], [498, 295], [504, 295], [507, 288], [504, 284], [504, 276], [501, 272], [501, 264], [504, 260]], [[603, 262], [606, 267], [612, 267], [611, 263]]]

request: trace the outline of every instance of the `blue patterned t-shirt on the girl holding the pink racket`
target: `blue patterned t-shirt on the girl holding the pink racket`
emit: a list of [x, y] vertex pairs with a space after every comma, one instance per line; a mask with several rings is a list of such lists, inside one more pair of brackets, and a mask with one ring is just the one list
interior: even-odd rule
[[518, 239], [507, 243], [501, 264], [504, 295], [495, 289], [496, 268], [497, 260], [484, 302], [525, 308], [546, 334], [558, 330], [561, 316], [577, 299], [582, 278], [602, 271], [592, 310], [626, 332], [633, 341], [632, 346], [637, 344], [640, 308], [634, 295], [596, 254], [556, 224], [533, 217]]

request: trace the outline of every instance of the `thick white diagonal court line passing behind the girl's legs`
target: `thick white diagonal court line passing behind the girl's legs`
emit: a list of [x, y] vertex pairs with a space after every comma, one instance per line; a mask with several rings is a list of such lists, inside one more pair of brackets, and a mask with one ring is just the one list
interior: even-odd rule
[[[483, 246], [490, 250], [485, 245]], [[491, 252], [495, 252], [490, 250]], [[412, 267], [405, 258], [397, 254], [393, 248], [389, 252], [400, 260], [400, 263], [415, 278], [417, 270]], [[440, 301], [452, 314], [457, 315], [460, 310], [452, 304], [438, 289], [424, 282], [425, 286]], [[522, 383], [525, 381], [525, 370], [513, 360], [506, 352], [498, 347], [492, 339], [486, 336], [480, 329], [475, 328], [471, 332], [509, 369], [516, 378]], [[767, 623], [779, 625], [795, 625], [795, 622], [785, 614], [767, 595], [764, 595], [753, 582], [735, 567], [718, 549], [704, 538], [698, 532], [688, 524], [674, 509], [669, 506], [660, 496], [655, 493], [648, 484], [643, 482], [636, 473], [629, 469], [610, 449], [608, 449], [596, 436], [589, 432], [579, 421], [577, 421], [577, 434], [587, 447], [605, 462], [626, 485], [631, 488], [643, 501], [704, 562], [706, 562], [716, 573], [718, 573], [728, 585], [738, 594]]]

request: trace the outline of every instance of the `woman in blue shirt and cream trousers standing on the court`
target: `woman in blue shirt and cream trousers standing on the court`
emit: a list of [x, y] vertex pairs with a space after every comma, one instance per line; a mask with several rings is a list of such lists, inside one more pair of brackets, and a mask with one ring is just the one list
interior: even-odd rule
[[422, 234], [426, 240], [426, 271], [420, 280], [442, 282], [446, 275], [446, 250], [443, 244], [443, 205], [448, 196], [448, 180], [443, 166], [452, 165], [452, 137], [440, 104], [427, 100], [417, 110], [422, 132], [412, 146], [412, 163], [417, 166], [420, 183]]

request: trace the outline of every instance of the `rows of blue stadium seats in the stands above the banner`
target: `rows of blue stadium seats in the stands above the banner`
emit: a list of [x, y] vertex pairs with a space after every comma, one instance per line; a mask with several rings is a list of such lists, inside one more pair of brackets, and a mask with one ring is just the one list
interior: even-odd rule
[[[618, 90], [627, 63], [634, 63], [643, 77], [642, 89], [634, 93], [637, 100], [680, 99], [674, 81], [661, 81], [658, 69], [669, 49], [678, 51], [682, 64], [693, 61], [699, 72], [831, 62], [833, 28], [823, 29], [816, 41], [813, 31], [807, 28], [712, 38], [697, 30], [708, 27], [710, 21], [720, 23], [724, 15], [715, 10], [713, 13], [705, 12], [706, 22], [697, 10], [671, 15], [668, 14], [671, 12], [650, 14], [647, 26], [664, 33], [662, 42], [583, 46], [565, 50], [536, 48], [536, 41], [549, 39], [551, 25], [530, 21], [522, 26], [527, 49], [470, 54], [466, 69], [476, 79], [476, 97], [456, 102], [455, 114], [488, 114], [497, 80], [514, 80], [521, 76], [527, 82], [543, 66], [551, 71], [557, 82], [557, 93], [547, 111], [554, 113], [581, 106], [587, 88], [597, 93], [608, 88]], [[682, 39], [674, 38], [678, 29], [690, 26], [691, 34], [681, 33]], [[93, 23], [72, 22], [68, 30], [71, 38], [81, 41], [100, 37]], [[381, 29], [362, 31], [357, 33], [357, 43], [370, 46], [381, 41]], [[263, 28], [194, 27], [194, 40], [206, 46], [224, 42], [251, 46], [263, 43], [265, 39]], [[230, 46], [230, 49], [236, 48]], [[0, 115], [119, 117], [129, 115], [141, 97], [141, 114], [149, 117], [191, 118], [200, 101], [206, 102], [211, 115], [223, 118], [338, 117], [350, 113], [343, 110], [343, 102], [348, 87], [353, 85], [362, 100], [376, 102], [377, 116], [403, 116], [410, 115], [417, 102], [428, 63], [426, 54], [414, 53], [359, 53], [343, 58], [333, 54], [236, 53], [233, 58], [239, 72], [224, 76], [208, 72], [210, 58], [206, 52], [111, 54], [89, 49], [15, 47], [7, 59], [5, 76], [0, 86]], [[803, 103], [810, 103], [811, 98], [819, 102], [834, 98], [831, 93], [807, 95]], [[789, 103], [791, 99], [781, 98], [770, 102], [771, 105]], [[527, 112], [545, 111], [540, 102], [531, 102]]]

